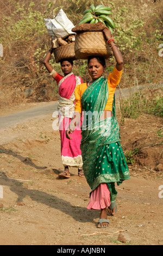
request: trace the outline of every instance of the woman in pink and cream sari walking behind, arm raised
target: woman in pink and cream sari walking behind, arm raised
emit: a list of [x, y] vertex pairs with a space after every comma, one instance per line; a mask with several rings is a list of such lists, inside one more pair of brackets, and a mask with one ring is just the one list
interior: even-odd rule
[[[58, 119], [59, 131], [61, 139], [61, 157], [62, 164], [65, 167], [64, 172], [59, 174], [61, 178], [70, 178], [70, 171], [68, 167], [77, 167], [78, 176], [84, 177], [82, 153], [80, 150], [80, 141], [82, 139], [81, 130], [79, 127], [73, 133], [73, 139], [67, 139], [65, 131], [71, 122], [74, 113], [75, 95], [74, 89], [78, 84], [82, 83], [82, 78], [75, 76], [72, 72], [73, 61], [71, 59], [64, 59], [60, 62], [61, 70], [64, 76], [59, 75], [49, 64], [53, 48], [46, 54], [43, 64], [58, 83], [59, 87], [59, 102], [58, 102]], [[82, 124], [82, 120], [81, 120]]]

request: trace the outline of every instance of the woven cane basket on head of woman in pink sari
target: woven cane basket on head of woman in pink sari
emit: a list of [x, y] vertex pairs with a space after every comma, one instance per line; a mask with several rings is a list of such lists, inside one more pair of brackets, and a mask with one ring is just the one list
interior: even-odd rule
[[74, 42], [71, 44], [67, 45], [62, 45], [57, 47], [54, 50], [54, 57], [55, 57], [55, 62], [59, 63], [62, 59], [76, 59], [76, 55], [74, 53]]

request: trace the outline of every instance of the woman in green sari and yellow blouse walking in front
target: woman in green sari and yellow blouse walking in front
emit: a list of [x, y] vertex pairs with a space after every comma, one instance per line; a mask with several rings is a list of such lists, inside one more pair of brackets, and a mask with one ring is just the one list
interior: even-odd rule
[[114, 93], [121, 80], [123, 58], [111, 38], [110, 30], [105, 28], [103, 32], [116, 59], [116, 66], [108, 78], [104, 78], [104, 58], [89, 57], [88, 71], [92, 81], [76, 87], [75, 112], [66, 131], [66, 137], [72, 139], [70, 133], [77, 129], [83, 114], [80, 149], [84, 175], [91, 188], [87, 209], [101, 210], [98, 228], [108, 227], [107, 213], [110, 216], [116, 213], [115, 182], [120, 185], [130, 178], [115, 115]]

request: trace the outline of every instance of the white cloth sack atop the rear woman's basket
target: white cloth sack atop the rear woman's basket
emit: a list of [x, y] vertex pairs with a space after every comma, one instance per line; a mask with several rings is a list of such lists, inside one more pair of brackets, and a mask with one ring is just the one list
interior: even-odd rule
[[57, 16], [54, 16], [54, 19], [44, 19], [44, 21], [52, 40], [56, 38], [64, 39], [68, 35], [75, 34], [72, 32], [72, 28], [74, 28], [73, 23], [68, 19], [62, 9], [60, 9]]

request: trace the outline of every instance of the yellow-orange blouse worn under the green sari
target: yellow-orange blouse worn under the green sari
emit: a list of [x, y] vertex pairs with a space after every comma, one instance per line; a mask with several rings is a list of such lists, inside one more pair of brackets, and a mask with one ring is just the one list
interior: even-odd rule
[[[112, 73], [110, 73], [108, 76], [109, 97], [104, 110], [112, 111], [112, 102], [114, 100], [114, 93], [118, 83], [120, 83], [121, 75], [122, 75], [122, 70], [118, 71], [115, 67]], [[74, 111], [77, 111], [79, 113], [82, 113], [83, 108], [82, 108], [81, 99], [86, 88], [87, 88], [87, 83], [81, 83], [76, 87], [74, 91], [74, 94], [76, 96], [76, 105], [75, 105]]]

